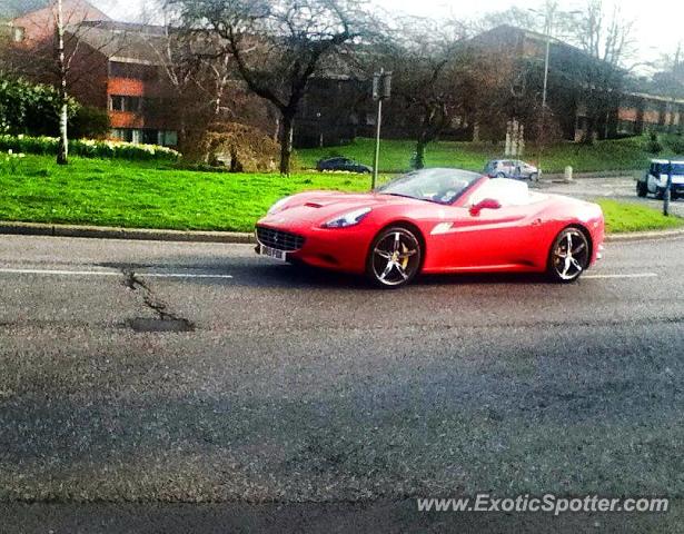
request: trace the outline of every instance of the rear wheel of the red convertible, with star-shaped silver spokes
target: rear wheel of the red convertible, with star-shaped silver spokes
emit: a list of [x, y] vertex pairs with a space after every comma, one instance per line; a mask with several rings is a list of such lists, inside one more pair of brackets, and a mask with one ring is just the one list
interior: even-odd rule
[[554, 239], [547, 273], [552, 280], [575, 281], [589, 265], [589, 241], [579, 228], [565, 228]]

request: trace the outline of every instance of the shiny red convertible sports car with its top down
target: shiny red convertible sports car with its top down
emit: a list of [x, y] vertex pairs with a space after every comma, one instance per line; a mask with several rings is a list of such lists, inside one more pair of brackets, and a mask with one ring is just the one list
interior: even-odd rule
[[419, 273], [547, 273], [576, 280], [601, 257], [601, 207], [527, 184], [424, 169], [368, 194], [310, 191], [257, 222], [257, 253], [366, 274], [381, 287]]

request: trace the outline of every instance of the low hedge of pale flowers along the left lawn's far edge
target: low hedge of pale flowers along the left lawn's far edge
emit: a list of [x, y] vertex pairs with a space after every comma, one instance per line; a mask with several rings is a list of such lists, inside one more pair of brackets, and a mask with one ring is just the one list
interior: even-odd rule
[[[57, 155], [56, 137], [7, 136], [0, 135], [0, 151], [11, 150], [20, 154]], [[69, 154], [83, 158], [166, 160], [176, 161], [180, 152], [157, 145], [133, 145], [123, 141], [97, 141], [76, 139], [69, 141]]]

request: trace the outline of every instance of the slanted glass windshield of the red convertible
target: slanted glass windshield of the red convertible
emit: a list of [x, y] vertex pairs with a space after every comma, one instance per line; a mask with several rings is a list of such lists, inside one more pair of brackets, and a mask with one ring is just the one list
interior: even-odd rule
[[379, 187], [381, 195], [397, 195], [438, 204], [452, 204], [482, 175], [458, 169], [423, 169]]

